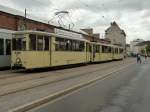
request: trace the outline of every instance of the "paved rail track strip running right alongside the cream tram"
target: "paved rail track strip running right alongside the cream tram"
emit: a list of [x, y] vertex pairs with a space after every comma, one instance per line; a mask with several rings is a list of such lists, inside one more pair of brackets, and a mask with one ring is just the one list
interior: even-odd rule
[[[122, 61], [120, 62], [113, 62], [113, 63], [107, 63], [107, 64], [101, 64], [104, 65], [102, 67], [94, 67], [97, 65], [90, 65], [91, 67], [94, 67], [93, 71], [97, 71], [97, 70], [102, 70], [102, 69], [108, 69], [112, 66], [117, 66], [119, 63], [122, 63]], [[82, 70], [85, 70], [87, 67], [82, 67]], [[44, 73], [35, 73], [35, 74], [28, 74], [28, 73], [19, 73], [22, 72], [22, 70], [20, 71], [12, 71], [12, 74], [7, 74], [7, 76], [0, 75], [0, 87], [1, 86], [5, 86], [5, 85], [9, 85], [9, 84], [14, 84], [14, 83], [19, 83], [19, 82], [25, 82], [25, 81], [30, 81], [30, 80], [37, 80], [37, 79], [41, 79], [41, 78], [48, 78], [48, 77], [53, 77], [53, 76], [59, 76], [62, 77], [65, 74], [68, 73], [73, 73], [76, 72], [76, 70], [78, 70], [78, 68], [71, 68], [71, 69], [67, 69], [65, 72], [64, 70], [58, 70], [58, 71], [52, 71], [52, 72], [44, 72]], [[87, 70], [88, 71], [88, 70]], [[91, 70], [90, 70], [91, 72]], [[84, 72], [84, 74], [89, 73], [89, 72]], [[76, 76], [77, 74], [75, 74]], [[79, 74], [81, 75], [81, 74]], [[72, 75], [69, 74], [69, 76], [72, 77]], [[74, 75], [73, 75], [74, 76]], [[77, 75], [78, 76], [78, 75]]]

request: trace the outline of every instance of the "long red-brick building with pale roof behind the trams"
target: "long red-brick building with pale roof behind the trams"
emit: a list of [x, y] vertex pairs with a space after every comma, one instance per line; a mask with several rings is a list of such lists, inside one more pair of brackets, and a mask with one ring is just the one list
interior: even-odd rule
[[35, 30], [50, 33], [56, 33], [56, 29], [60, 29], [66, 31], [66, 33], [72, 32], [88, 36], [88, 33], [82, 30], [73, 31], [56, 25], [48, 24], [48, 21], [45, 21], [41, 18], [36, 18], [33, 16], [25, 17], [23, 12], [2, 5], [0, 5], [0, 29], [11, 31]]

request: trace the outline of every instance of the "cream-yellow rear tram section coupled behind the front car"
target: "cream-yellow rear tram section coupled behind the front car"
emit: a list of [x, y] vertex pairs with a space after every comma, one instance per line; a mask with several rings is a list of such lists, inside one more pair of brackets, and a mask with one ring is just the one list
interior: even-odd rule
[[103, 62], [123, 59], [123, 48], [111, 44], [91, 42], [91, 62]]

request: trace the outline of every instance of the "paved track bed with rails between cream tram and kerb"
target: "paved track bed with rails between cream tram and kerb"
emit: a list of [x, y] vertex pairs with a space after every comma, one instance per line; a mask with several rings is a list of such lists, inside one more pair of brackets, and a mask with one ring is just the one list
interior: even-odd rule
[[[103, 78], [107, 76], [108, 73], [116, 71], [124, 66], [129, 66], [133, 62], [135, 62], [135, 60], [129, 59], [128, 61], [124, 60], [105, 64], [93, 64], [54, 72], [34, 73], [26, 76], [23, 75], [1, 79], [0, 112], [12, 112], [15, 109], [36, 102], [37, 100], [39, 101], [45, 97], [56, 96], [56, 94], [61, 94], [62, 92], [66, 93], [66, 91], [70, 93], [71, 89], [77, 90], [81, 86], [83, 87], [83, 85], [95, 79]], [[19, 73], [19, 75], [21, 74]], [[1, 76], [3, 76], [3, 74]], [[37, 78], [37, 76], [40, 77]], [[24, 78], [25, 81], [22, 80], [22, 78]], [[33, 79], [28, 80], [28, 78]], [[59, 81], [56, 81], [58, 79]], [[6, 85], [2, 83], [2, 81], [6, 82]], [[32, 86], [34, 87], [31, 88]]]

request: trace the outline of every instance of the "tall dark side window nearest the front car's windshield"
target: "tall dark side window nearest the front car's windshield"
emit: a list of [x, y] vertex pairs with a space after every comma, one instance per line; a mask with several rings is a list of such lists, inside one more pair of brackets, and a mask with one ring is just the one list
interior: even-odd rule
[[30, 34], [30, 50], [36, 50], [36, 35], [35, 34]]

